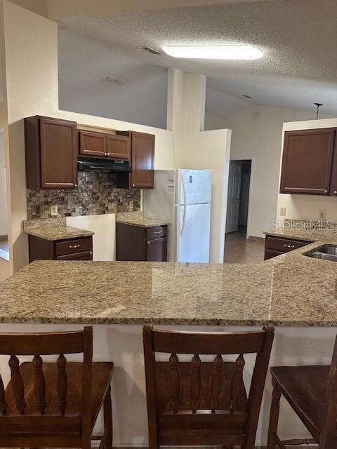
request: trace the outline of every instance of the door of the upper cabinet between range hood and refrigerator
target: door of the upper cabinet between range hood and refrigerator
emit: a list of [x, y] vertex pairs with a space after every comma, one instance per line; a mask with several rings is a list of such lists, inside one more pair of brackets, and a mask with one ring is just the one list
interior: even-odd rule
[[154, 135], [132, 133], [131, 149], [131, 187], [153, 189]]

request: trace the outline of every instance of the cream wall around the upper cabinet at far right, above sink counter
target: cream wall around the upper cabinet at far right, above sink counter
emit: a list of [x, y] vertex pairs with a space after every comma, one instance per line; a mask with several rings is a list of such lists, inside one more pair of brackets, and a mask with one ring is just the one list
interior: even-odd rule
[[[284, 123], [283, 133], [297, 129], [336, 127], [337, 119], [296, 121]], [[283, 137], [284, 134], [280, 151], [283, 149]], [[281, 166], [279, 166], [279, 174], [281, 174]], [[337, 199], [334, 196], [278, 194], [277, 219], [283, 220], [284, 217], [279, 215], [280, 208], [286, 208], [286, 218], [319, 220], [319, 209], [324, 209], [326, 220], [337, 220]]]

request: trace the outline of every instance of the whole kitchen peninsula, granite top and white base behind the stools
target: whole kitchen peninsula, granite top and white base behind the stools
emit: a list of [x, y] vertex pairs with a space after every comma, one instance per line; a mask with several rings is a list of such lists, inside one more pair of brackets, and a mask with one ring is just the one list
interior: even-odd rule
[[[322, 243], [337, 243], [337, 238], [330, 235], [329, 242], [310, 243], [260, 264], [36, 261], [0, 284], [1, 331], [97, 325], [95, 358], [113, 360], [117, 367], [115, 444], [143, 445], [143, 323], [204, 331], [273, 323], [278, 327], [272, 365], [329, 363], [337, 326], [337, 266], [303, 255]], [[248, 372], [252, 367], [247, 360]], [[270, 388], [268, 379], [257, 443], [267, 434]], [[303, 436], [290, 410], [281, 416], [285, 437]]]

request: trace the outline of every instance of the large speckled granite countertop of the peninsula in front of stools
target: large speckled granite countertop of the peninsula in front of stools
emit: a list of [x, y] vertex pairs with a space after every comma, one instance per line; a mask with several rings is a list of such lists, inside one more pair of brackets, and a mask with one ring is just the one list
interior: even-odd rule
[[0, 283], [0, 321], [337, 326], [337, 264], [303, 255], [322, 243], [259, 264], [36, 261]]

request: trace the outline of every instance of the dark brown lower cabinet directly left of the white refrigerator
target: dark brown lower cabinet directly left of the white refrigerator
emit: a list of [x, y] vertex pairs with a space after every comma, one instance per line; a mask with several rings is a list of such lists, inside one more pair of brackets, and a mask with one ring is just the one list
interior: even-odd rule
[[166, 262], [167, 226], [145, 228], [117, 223], [116, 260]]

